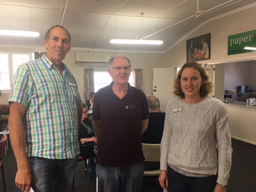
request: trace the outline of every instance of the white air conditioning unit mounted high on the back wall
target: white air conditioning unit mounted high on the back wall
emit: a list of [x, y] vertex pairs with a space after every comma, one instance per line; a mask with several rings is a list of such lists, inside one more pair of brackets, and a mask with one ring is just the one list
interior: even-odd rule
[[110, 54], [88, 54], [76, 53], [76, 64], [78, 65], [106, 65], [111, 58]]

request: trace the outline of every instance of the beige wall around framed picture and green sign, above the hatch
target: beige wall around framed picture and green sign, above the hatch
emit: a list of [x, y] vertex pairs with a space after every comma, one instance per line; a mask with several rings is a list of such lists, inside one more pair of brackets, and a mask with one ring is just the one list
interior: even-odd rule
[[252, 7], [232, 15], [209, 22], [190, 34], [174, 48], [164, 54], [164, 62], [168, 66], [182, 65], [186, 62], [186, 40], [210, 33], [210, 60], [200, 63], [227, 62], [256, 58], [256, 52], [227, 55], [228, 36], [250, 30], [256, 30], [254, 22], [256, 7]]

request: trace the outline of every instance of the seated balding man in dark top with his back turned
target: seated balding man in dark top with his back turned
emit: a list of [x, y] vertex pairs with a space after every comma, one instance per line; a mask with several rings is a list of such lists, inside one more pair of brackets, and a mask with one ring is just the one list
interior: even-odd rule
[[160, 113], [158, 99], [154, 95], [147, 95], [149, 118], [148, 128], [142, 135], [142, 143], [161, 143], [164, 130], [165, 113]]

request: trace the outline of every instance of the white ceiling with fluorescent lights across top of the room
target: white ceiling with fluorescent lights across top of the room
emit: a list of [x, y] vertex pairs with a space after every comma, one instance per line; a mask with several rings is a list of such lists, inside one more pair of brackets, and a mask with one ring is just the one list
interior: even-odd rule
[[[74, 48], [166, 52], [202, 24], [252, 6], [255, 0], [0, 0], [0, 29], [40, 32], [39, 37], [0, 36], [0, 46], [42, 46], [46, 30], [61, 24], [64, 15]], [[110, 44], [112, 38], [164, 44]]]

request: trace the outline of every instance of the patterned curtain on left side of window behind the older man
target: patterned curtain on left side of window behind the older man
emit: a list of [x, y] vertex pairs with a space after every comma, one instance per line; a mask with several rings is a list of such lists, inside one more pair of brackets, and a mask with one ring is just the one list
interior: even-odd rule
[[89, 93], [94, 91], [94, 69], [84, 69], [84, 102], [90, 99]]

